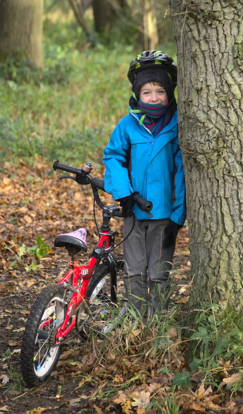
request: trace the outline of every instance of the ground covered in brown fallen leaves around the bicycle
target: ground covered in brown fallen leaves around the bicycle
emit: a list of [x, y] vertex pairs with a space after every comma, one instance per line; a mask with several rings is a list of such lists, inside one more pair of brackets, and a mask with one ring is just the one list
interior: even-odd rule
[[[176, 373], [187, 369], [187, 344], [178, 346], [178, 333], [173, 327], [169, 330], [174, 344], [171, 355], [165, 352], [159, 363], [151, 350], [142, 359], [137, 358], [135, 331], [130, 353], [117, 356], [110, 351], [103, 360], [96, 353], [102, 341], [85, 344], [75, 331], [50, 379], [37, 388], [26, 388], [19, 358], [26, 318], [41, 290], [65, 274], [70, 259], [64, 248], [53, 247], [53, 240], [59, 233], [79, 227], [89, 229], [88, 253], [79, 255], [85, 263], [98, 238], [90, 188], [70, 180], [60, 182], [59, 174], [53, 174], [51, 167], [41, 162], [35, 168], [24, 162], [15, 171], [12, 168], [5, 162], [0, 180], [0, 413], [243, 413], [243, 400], [230, 400], [231, 393], [224, 400], [222, 392], [206, 386], [200, 370], [185, 376], [187, 387], [173, 383]], [[102, 174], [100, 170], [93, 175]], [[106, 193], [101, 197], [106, 204], [112, 201]], [[96, 219], [101, 224], [97, 206]], [[121, 241], [122, 220], [111, 219], [111, 227], [117, 231], [116, 241]], [[51, 246], [41, 259], [26, 253], [27, 248], [36, 246], [38, 236]], [[171, 307], [178, 306], [178, 315], [185, 314], [190, 293], [188, 248], [188, 227], [184, 226], [177, 236], [173, 260]], [[122, 253], [122, 246], [117, 250]], [[221, 366], [221, 380], [231, 378], [226, 362], [222, 361]]]

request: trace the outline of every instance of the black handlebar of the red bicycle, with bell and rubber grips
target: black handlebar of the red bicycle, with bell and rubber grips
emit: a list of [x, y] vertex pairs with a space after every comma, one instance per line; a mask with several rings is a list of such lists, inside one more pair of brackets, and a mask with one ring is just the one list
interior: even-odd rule
[[[59, 160], [57, 160], [57, 161], [54, 161], [53, 163], [53, 169], [54, 171], [62, 170], [68, 173], [76, 174], [76, 178], [70, 177], [70, 176], [63, 176], [63, 177], [60, 177], [60, 179], [71, 178], [72, 180], [75, 180], [79, 184], [90, 183], [96, 203], [101, 209], [104, 209], [104, 208], [107, 209], [107, 206], [103, 204], [103, 202], [101, 201], [99, 197], [99, 193], [98, 193], [98, 189], [106, 192], [104, 188], [104, 180], [101, 180], [101, 178], [92, 177], [89, 174], [93, 169], [90, 163], [84, 164], [82, 168], [74, 168], [66, 164], [61, 164]], [[144, 200], [144, 198], [139, 194], [134, 195], [133, 199], [137, 203], [137, 206], [140, 208], [140, 210], [146, 212], [149, 215], [149, 217], [153, 217], [152, 214], [150, 213], [150, 211], [153, 208], [152, 201]], [[116, 207], [113, 208], [113, 216], [124, 217], [122, 213], [115, 211], [115, 209]]]

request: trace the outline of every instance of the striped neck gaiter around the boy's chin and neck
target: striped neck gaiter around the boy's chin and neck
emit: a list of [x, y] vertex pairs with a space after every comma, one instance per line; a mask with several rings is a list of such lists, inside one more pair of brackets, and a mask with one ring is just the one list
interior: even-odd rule
[[177, 104], [174, 98], [172, 102], [167, 105], [144, 103], [139, 99], [135, 109], [130, 112], [137, 113], [140, 118], [140, 125], [142, 123], [150, 132], [156, 137], [163, 128], [168, 125], [176, 111]]

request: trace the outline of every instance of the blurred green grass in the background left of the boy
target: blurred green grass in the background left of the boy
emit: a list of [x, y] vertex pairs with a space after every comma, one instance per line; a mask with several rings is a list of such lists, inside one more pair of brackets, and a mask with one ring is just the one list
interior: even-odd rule
[[[80, 28], [71, 41], [61, 27], [56, 23], [55, 32], [53, 24], [51, 30], [44, 25], [44, 72], [21, 60], [0, 66], [0, 161], [100, 163], [113, 128], [128, 113], [127, 72], [138, 50], [99, 44], [79, 51]], [[164, 50], [176, 58], [173, 45]]]

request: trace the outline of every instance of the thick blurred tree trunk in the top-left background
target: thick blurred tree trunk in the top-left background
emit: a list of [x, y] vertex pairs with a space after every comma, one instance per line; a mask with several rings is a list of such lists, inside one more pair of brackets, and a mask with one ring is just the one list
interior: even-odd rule
[[43, 0], [0, 1], [0, 59], [21, 55], [43, 66]]

